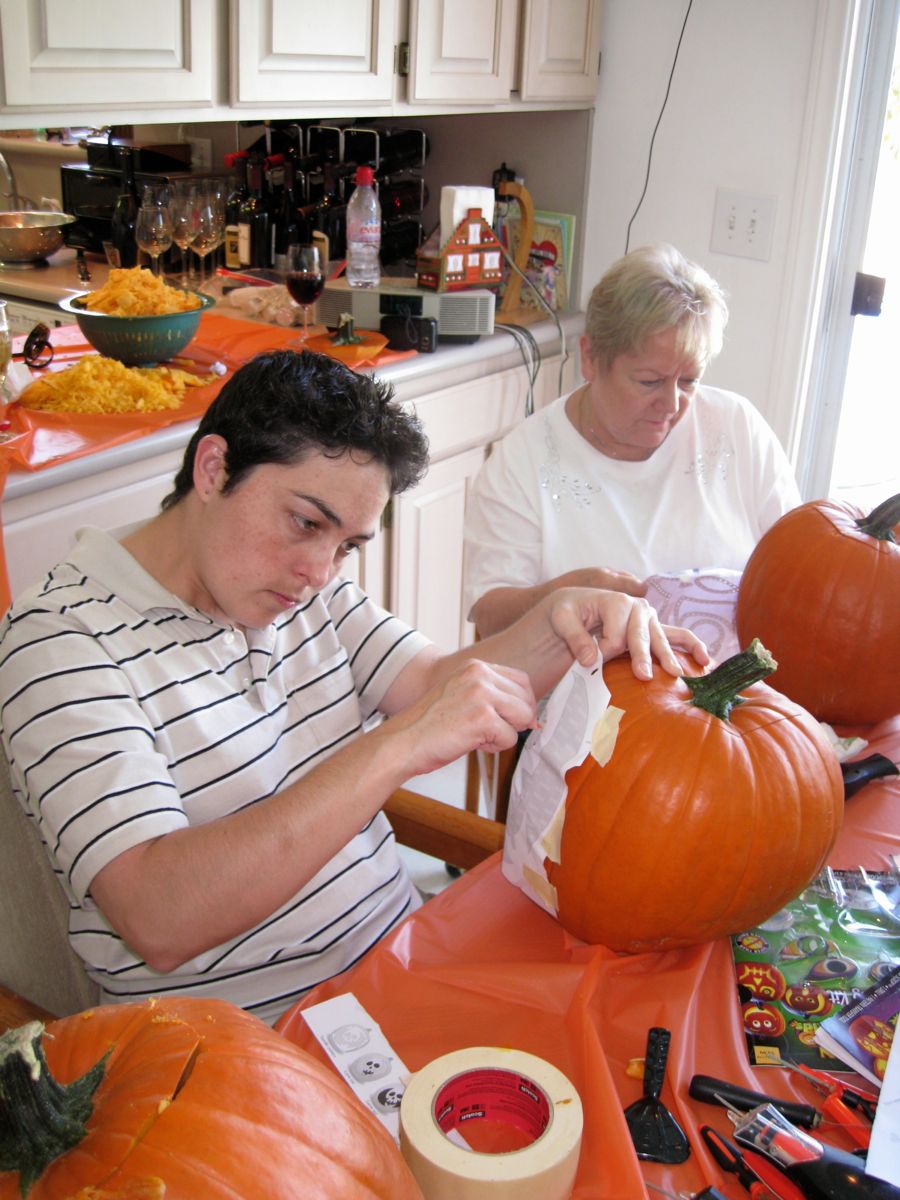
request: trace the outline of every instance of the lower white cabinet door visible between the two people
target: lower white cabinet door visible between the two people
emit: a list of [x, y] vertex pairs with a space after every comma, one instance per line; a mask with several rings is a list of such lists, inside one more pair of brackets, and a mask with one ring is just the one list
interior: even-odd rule
[[473, 640], [462, 610], [462, 534], [469, 486], [484, 461], [482, 446], [454, 455], [394, 499], [390, 607], [445, 650]]

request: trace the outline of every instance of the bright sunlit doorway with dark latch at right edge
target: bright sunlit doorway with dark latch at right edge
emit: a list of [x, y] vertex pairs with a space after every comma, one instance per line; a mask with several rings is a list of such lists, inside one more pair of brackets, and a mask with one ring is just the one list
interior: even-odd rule
[[[798, 476], [810, 499], [870, 511], [900, 492], [900, 0], [863, 2], [856, 119], [827, 272], [826, 317]], [[884, 280], [880, 316], [853, 316], [858, 274]], [[876, 288], [877, 292], [877, 288]], [[877, 300], [870, 301], [877, 310]]]

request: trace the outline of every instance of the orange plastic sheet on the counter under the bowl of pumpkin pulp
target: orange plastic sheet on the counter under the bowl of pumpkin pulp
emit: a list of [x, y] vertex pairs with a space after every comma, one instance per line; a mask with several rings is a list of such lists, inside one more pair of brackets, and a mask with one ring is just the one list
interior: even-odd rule
[[[0, 498], [11, 470], [43, 470], [71, 458], [80, 458], [146, 437], [168, 425], [199, 420], [222, 384], [239, 366], [263, 350], [283, 349], [296, 338], [296, 329], [292, 328], [281, 329], [259, 322], [222, 317], [215, 312], [204, 313], [197, 335], [172, 365], [203, 376], [209, 373], [214, 362], [222, 362], [227, 373], [200, 388], [190, 388], [184, 403], [176, 409], [89, 416], [43, 413], [24, 408], [19, 403], [10, 404], [5, 414], [7, 426], [0, 431]], [[24, 336], [16, 338], [13, 352], [19, 352], [24, 341]], [[53, 364], [47, 368], [50, 371], [64, 370], [85, 354], [96, 353], [74, 324], [52, 330], [50, 342], [55, 352]], [[414, 354], [415, 350], [380, 350], [371, 360], [360, 360], [354, 366], [378, 367]], [[8, 605], [10, 587], [0, 540], [0, 614], [6, 612]]]

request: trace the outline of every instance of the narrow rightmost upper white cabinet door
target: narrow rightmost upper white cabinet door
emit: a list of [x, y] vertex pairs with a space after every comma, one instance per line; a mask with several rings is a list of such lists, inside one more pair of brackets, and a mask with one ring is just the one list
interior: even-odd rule
[[596, 95], [601, 0], [526, 0], [522, 100]]

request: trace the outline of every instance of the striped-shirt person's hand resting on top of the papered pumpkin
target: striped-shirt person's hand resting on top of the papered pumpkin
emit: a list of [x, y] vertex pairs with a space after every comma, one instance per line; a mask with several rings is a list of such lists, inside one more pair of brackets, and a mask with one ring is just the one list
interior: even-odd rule
[[598, 658], [631, 655], [638, 679], [653, 676], [655, 658], [668, 674], [682, 673], [673, 647], [690, 654], [701, 666], [709, 662], [703, 642], [688, 629], [660, 624], [656, 610], [640, 596], [598, 588], [564, 588], [547, 601], [551, 628], [583, 666]]

